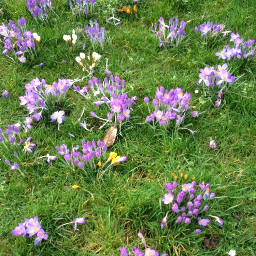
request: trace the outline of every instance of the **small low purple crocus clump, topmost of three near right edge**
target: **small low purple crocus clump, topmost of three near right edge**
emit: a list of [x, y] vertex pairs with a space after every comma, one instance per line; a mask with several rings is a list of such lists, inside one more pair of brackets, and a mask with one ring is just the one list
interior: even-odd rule
[[[195, 32], [198, 33], [200, 31], [202, 37], [217, 37], [217, 35], [224, 29], [223, 23], [216, 25], [213, 22], [204, 22], [198, 27], [195, 27]], [[227, 33], [230, 33], [231, 31], [225, 31], [226, 33], [223, 35], [225, 36]]]

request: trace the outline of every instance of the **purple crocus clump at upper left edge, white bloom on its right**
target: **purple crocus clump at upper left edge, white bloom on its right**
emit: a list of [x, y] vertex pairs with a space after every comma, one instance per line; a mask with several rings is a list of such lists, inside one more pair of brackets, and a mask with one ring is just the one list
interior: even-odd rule
[[[0, 35], [2, 35], [4, 43], [3, 55], [12, 52], [21, 63], [26, 62], [26, 54], [37, 55], [35, 44], [41, 40], [37, 33], [32, 33], [26, 29], [26, 19], [23, 17], [17, 20], [18, 26], [10, 19], [8, 27], [2, 23], [0, 26]], [[18, 57], [19, 56], [19, 57]]]

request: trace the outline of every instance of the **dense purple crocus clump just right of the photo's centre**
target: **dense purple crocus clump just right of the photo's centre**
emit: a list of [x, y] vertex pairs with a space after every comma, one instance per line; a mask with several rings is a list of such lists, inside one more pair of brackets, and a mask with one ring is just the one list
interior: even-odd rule
[[[182, 88], [171, 89], [168, 91], [163, 86], [160, 89], [157, 87], [155, 98], [152, 101], [153, 111], [149, 104], [149, 98], [145, 97], [144, 102], [147, 104], [149, 114], [146, 117], [146, 122], [159, 123], [162, 126], [169, 126], [171, 120], [176, 120], [176, 128], [179, 128], [181, 122], [185, 118], [186, 111], [195, 108], [190, 106], [191, 94], [183, 94]], [[193, 112], [193, 117], [198, 117], [198, 112]], [[184, 128], [180, 128], [184, 129]], [[189, 130], [189, 129], [188, 129]], [[189, 130], [191, 131], [191, 130]], [[195, 131], [191, 131], [195, 135]]]

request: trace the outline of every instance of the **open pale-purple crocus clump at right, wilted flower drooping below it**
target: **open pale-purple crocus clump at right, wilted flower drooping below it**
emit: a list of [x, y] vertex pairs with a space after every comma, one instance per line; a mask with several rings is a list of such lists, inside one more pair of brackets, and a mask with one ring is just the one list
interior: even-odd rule
[[223, 89], [226, 84], [231, 84], [236, 80], [236, 77], [232, 76], [230, 72], [227, 71], [228, 65], [225, 63], [224, 65], [218, 65], [218, 68], [215, 70], [214, 67], [205, 67], [204, 69], [199, 69], [199, 80], [197, 85], [200, 85], [201, 82], [207, 87], [211, 86], [214, 88], [215, 86], [222, 85], [222, 88], [216, 92], [217, 101], [216, 108], [221, 105], [221, 101], [223, 98]]

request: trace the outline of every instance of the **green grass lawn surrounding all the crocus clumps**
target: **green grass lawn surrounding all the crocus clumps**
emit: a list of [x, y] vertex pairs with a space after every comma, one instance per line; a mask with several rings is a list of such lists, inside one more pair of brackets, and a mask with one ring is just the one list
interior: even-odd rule
[[[148, 247], [162, 254], [227, 255], [233, 249], [237, 255], [255, 255], [255, 57], [228, 62], [232, 75], [239, 79], [227, 87], [222, 104], [216, 109], [216, 90], [202, 84], [197, 86], [199, 68], [225, 63], [218, 61], [214, 53], [228, 44], [230, 36], [204, 40], [194, 28], [204, 21], [213, 21], [224, 23], [226, 30], [239, 32], [245, 40], [255, 39], [256, 3], [250, 0], [141, 0], [137, 3], [137, 14], [115, 12], [123, 21], [119, 26], [106, 23], [106, 18], [112, 15], [113, 7], [133, 6], [133, 1], [96, 0], [94, 11], [86, 17], [73, 15], [68, 1], [56, 0], [46, 24], [37, 23], [25, 4], [25, 0], [0, 2], [3, 8], [0, 22], [7, 25], [6, 20], [16, 23], [25, 17], [27, 28], [41, 37], [38, 57], [28, 56], [25, 63], [12, 61], [8, 56], [0, 58], [0, 91], [1, 94], [4, 89], [9, 92], [9, 98], [0, 98], [0, 128], [5, 130], [7, 125], [24, 122], [27, 112], [25, 106], [19, 105], [19, 96], [24, 95], [25, 83], [35, 77], [51, 84], [62, 77], [83, 76], [75, 57], [80, 52], [92, 54], [93, 47], [80, 36], [73, 51], [63, 40], [63, 34], [71, 34], [76, 26], [89, 24], [89, 19], [97, 18], [110, 39], [105, 51], [97, 46], [94, 49], [101, 55], [95, 76], [101, 81], [104, 79], [105, 58], [108, 58], [108, 69], [125, 80], [128, 97], [137, 95], [138, 100], [131, 111], [130, 122], [118, 130], [116, 141], [107, 151], [127, 156], [128, 160], [113, 167], [101, 179], [96, 177], [97, 171], [85, 174], [79, 169], [67, 169], [60, 155], [51, 165], [45, 158], [38, 159], [47, 153], [57, 156], [55, 146], [62, 143], [71, 148], [81, 145], [83, 139], [102, 140], [108, 129], [97, 129], [100, 123], [95, 122], [90, 112], [99, 114], [100, 110], [72, 89], [68, 90], [67, 97], [74, 104], [59, 131], [58, 125], [51, 124], [49, 118], [58, 110], [53, 106], [48, 116], [27, 134], [23, 133], [24, 138], [31, 136], [36, 144], [32, 154], [24, 154], [23, 147], [9, 143], [6, 150], [0, 144], [0, 255], [120, 255], [121, 246], [131, 251], [134, 245], [141, 244], [137, 237], [139, 231]], [[187, 22], [185, 39], [177, 47], [159, 48], [158, 39], [148, 29], [160, 16]], [[1, 42], [0, 49], [2, 52]], [[88, 80], [76, 85], [87, 86]], [[143, 98], [153, 99], [156, 87], [160, 86], [168, 90], [181, 87], [191, 93], [191, 104], [196, 105], [200, 116], [193, 118], [187, 114], [181, 127], [189, 125], [187, 128], [197, 131], [195, 136], [187, 130], [175, 130], [175, 125], [167, 130], [156, 125], [154, 131], [145, 123], [147, 106]], [[77, 121], [83, 108], [87, 122], [93, 127], [91, 132]], [[68, 132], [75, 138], [69, 137]], [[216, 142], [215, 149], [209, 147], [210, 137]], [[17, 170], [9, 170], [10, 166], [4, 162], [6, 158], [15, 161], [14, 151], [21, 158], [19, 165], [25, 177]], [[179, 173], [183, 173], [183, 177]], [[187, 182], [195, 177], [197, 184], [210, 183], [216, 196], [207, 214], [219, 216], [224, 225], [215, 225], [211, 220], [197, 234], [194, 232], [197, 221], [192, 220], [188, 226], [175, 224], [177, 216], [171, 213], [167, 227], [161, 229], [168, 207], [160, 198], [166, 193], [164, 184], [174, 181], [172, 174], [177, 176], [179, 185], [185, 183], [185, 174]], [[93, 193], [94, 200], [86, 191], [72, 189], [72, 185]], [[11, 234], [24, 217], [34, 216], [39, 217], [49, 235], [37, 246], [33, 245], [33, 238]], [[55, 230], [76, 217], [86, 218], [84, 225], [78, 224], [76, 232], [72, 224]], [[217, 242], [210, 248], [207, 240], [214, 239]]]

